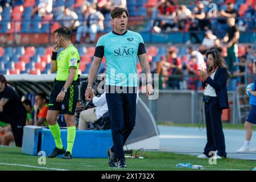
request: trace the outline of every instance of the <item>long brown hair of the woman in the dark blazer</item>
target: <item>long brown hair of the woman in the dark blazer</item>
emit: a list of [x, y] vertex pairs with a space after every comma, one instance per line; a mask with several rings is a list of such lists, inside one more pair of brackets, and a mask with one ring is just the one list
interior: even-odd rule
[[[220, 52], [218, 52], [216, 49], [211, 49], [206, 52], [206, 57], [208, 59], [208, 56], [212, 55], [214, 64], [213, 67], [209, 67], [208, 74], [210, 74], [214, 69], [218, 68], [226, 68], [226, 71], [228, 72], [228, 67], [225, 64], [225, 60], [222, 58]], [[230, 78], [230, 73], [228, 72], [228, 78]]]

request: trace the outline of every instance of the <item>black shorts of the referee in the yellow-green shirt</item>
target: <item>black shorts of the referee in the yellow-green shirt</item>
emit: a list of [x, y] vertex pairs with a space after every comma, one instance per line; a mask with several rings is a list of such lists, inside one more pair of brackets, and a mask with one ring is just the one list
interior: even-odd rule
[[65, 81], [56, 81], [49, 97], [48, 110], [59, 110], [61, 114], [75, 114], [76, 103], [79, 98], [79, 88], [76, 81], [73, 81], [65, 93], [64, 100], [57, 102], [56, 98], [61, 92], [61, 88], [65, 85]]

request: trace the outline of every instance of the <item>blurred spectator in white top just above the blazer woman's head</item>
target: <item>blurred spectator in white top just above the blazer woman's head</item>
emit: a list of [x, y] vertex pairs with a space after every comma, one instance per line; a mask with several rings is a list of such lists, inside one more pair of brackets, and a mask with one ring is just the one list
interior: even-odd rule
[[209, 49], [212, 49], [214, 46], [216, 46], [216, 40], [217, 36], [213, 35], [212, 31], [206, 31], [202, 45], [199, 47], [199, 51], [204, 54]]

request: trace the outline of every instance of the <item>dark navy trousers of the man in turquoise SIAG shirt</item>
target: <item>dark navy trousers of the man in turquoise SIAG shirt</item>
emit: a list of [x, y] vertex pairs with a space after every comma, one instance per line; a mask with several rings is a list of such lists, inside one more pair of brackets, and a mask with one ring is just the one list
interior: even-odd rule
[[111, 150], [118, 159], [125, 159], [123, 145], [135, 126], [137, 92], [135, 87], [132, 89], [133, 93], [106, 92], [114, 144]]

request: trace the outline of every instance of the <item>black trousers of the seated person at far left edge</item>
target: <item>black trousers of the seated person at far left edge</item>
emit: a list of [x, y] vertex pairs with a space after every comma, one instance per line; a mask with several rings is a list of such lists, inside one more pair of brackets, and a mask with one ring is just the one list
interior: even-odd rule
[[26, 125], [26, 117], [26, 113], [20, 117], [13, 117], [3, 112], [0, 113], [0, 121], [10, 123], [17, 147], [22, 147], [23, 127]]

